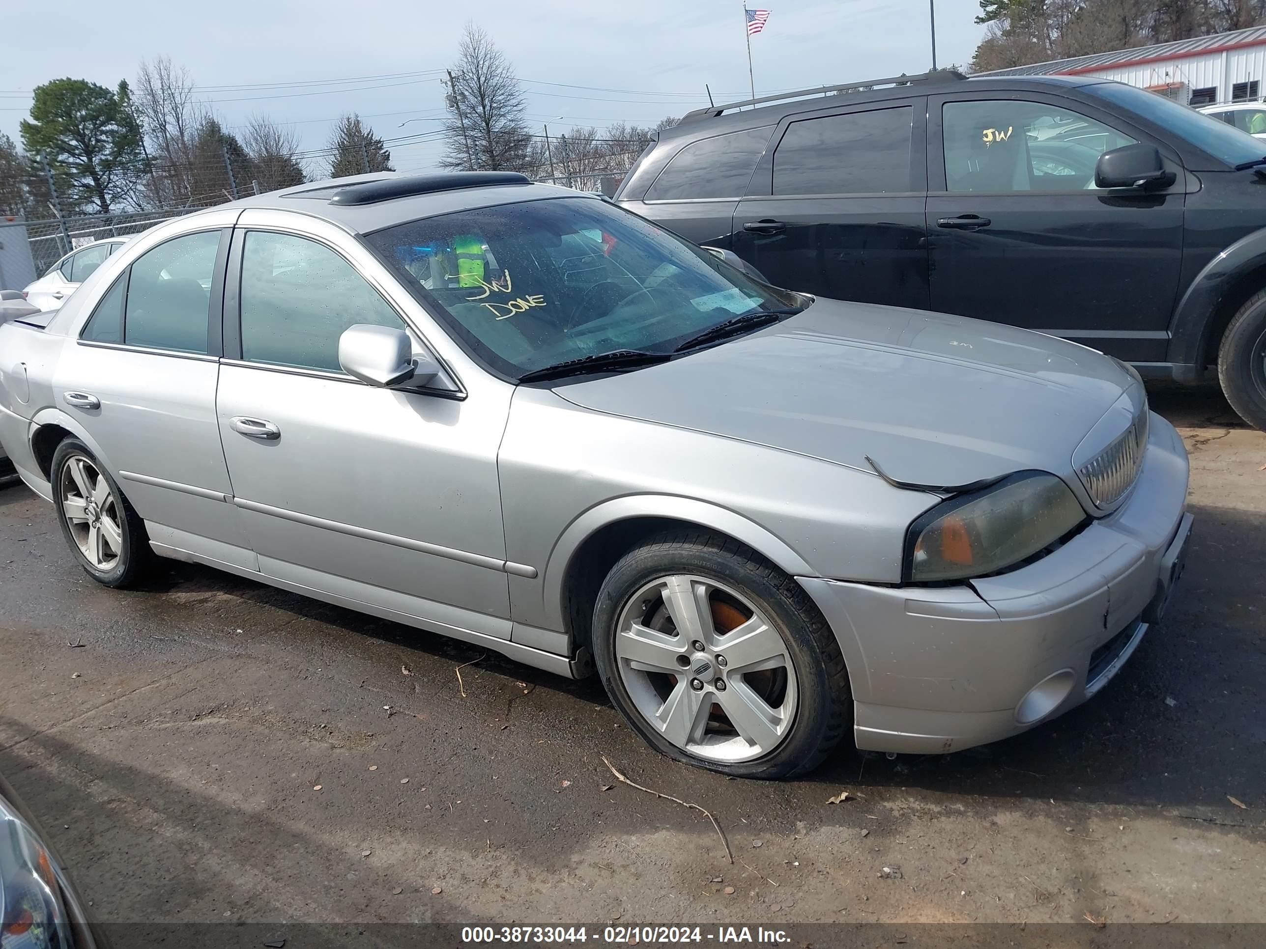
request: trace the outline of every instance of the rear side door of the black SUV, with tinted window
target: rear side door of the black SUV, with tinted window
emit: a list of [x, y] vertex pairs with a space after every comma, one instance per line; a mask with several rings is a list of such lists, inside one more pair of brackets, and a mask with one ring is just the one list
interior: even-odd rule
[[734, 213], [733, 249], [770, 282], [928, 306], [924, 99], [784, 119]]

